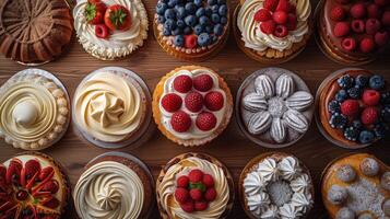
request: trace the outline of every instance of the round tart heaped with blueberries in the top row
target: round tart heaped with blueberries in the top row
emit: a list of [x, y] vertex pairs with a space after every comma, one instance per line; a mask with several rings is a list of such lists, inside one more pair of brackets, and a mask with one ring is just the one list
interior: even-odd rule
[[226, 0], [158, 0], [154, 35], [176, 58], [203, 61], [225, 45], [229, 31]]

